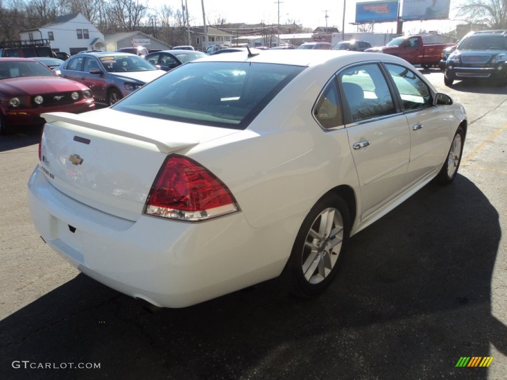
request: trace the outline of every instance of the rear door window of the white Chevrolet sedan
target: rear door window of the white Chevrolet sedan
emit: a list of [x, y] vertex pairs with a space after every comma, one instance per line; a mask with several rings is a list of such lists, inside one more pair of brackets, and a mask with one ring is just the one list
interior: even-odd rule
[[347, 68], [340, 72], [339, 78], [353, 122], [396, 112], [389, 87], [377, 64]]

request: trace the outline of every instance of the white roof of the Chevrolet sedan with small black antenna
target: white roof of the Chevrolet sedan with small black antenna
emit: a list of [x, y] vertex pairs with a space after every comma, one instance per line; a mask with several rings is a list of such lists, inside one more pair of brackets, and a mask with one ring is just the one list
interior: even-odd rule
[[[252, 49], [253, 50], [253, 49]], [[331, 60], [342, 61], [338, 65], [349, 65], [355, 62], [365, 62], [368, 60], [382, 60], [390, 62], [399, 62], [407, 64], [407, 62], [399, 57], [382, 53], [366, 53], [354, 52], [348, 50], [304, 50], [304, 49], [287, 49], [284, 50], [256, 50], [259, 53], [248, 58], [248, 53], [232, 52], [228, 54], [213, 54], [198, 61], [216, 61], [216, 62], [259, 62], [259, 63], [275, 63], [296, 66], [314, 66], [324, 64]], [[197, 61], [193, 61], [197, 62]]]

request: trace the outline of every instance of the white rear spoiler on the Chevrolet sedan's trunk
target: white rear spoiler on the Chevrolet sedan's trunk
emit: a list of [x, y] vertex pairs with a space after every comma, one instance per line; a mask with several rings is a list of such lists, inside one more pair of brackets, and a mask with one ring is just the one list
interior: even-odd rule
[[80, 115], [75, 115], [74, 113], [67, 112], [41, 113], [41, 118], [44, 118], [47, 123], [63, 122], [77, 125], [80, 127], [94, 129], [96, 131], [111, 133], [117, 136], [132, 138], [134, 140], [148, 142], [154, 144], [162, 153], [171, 153], [175, 150], [188, 148], [199, 144], [199, 141], [171, 141], [170, 143], [164, 143], [156, 138], [151, 138], [137, 133], [128, 132], [122, 129], [107, 127], [101, 124], [95, 124], [89, 122], [86, 118]]

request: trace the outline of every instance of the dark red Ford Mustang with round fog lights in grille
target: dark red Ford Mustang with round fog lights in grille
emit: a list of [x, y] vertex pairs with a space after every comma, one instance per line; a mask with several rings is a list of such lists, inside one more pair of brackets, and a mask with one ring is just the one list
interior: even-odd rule
[[29, 58], [0, 58], [0, 134], [18, 125], [41, 125], [43, 112], [95, 109], [85, 85], [60, 78]]

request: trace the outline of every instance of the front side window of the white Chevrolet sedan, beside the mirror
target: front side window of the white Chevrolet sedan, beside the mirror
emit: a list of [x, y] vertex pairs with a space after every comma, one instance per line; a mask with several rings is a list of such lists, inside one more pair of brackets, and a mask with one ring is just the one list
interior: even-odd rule
[[385, 67], [400, 93], [405, 110], [430, 107], [433, 104], [428, 86], [413, 71], [391, 63]]

